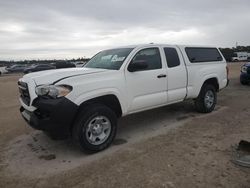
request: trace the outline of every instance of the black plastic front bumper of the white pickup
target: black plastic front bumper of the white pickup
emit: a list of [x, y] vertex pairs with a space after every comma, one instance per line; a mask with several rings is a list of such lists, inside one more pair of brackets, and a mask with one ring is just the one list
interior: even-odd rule
[[69, 135], [78, 106], [67, 98], [43, 99], [33, 102], [37, 109], [29, 112], [23, 107], [20, 112], [26, 122], [34, 129], [43, 130], [56, 135]]

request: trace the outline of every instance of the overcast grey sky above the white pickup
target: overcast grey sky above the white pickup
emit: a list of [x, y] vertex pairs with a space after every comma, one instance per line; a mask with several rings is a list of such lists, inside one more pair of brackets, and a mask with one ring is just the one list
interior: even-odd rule
[[250, 45], [250, 0], [0, 0], [0, 60], [150, 42]]

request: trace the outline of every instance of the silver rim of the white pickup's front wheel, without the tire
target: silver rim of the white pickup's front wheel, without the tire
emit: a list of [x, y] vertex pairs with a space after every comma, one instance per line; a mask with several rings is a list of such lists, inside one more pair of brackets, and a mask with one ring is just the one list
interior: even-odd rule
[[103, 144], [111, 133], [111, 122], [105, 116], [96, 116], [90, 120], [87, 130], [86, 138], [90, 144]]

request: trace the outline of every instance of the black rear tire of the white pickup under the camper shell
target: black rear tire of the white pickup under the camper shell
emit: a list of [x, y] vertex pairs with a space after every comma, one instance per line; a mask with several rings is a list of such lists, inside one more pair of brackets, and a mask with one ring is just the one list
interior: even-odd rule
[[[214, 100], [210, 102], [211, 104], [209, 105], [205, 101], [205, 97], [208, 93], [212, 94], [214, 97]], [[212, 112], [215, 108], [216, 103], [217, 103], [217, 93], [215, 87], [210, 84], [204, 84], [201, 88], [199, 96], [195, 100], [196, 110], [200, 113]]]

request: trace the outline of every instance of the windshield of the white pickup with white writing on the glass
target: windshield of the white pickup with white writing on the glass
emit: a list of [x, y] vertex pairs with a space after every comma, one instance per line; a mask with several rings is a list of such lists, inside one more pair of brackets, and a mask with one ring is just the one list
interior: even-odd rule
[[119, 70], [132, 50], [133, 48], [118, 48], [101, 51], [89, 60], [84, 67]]

